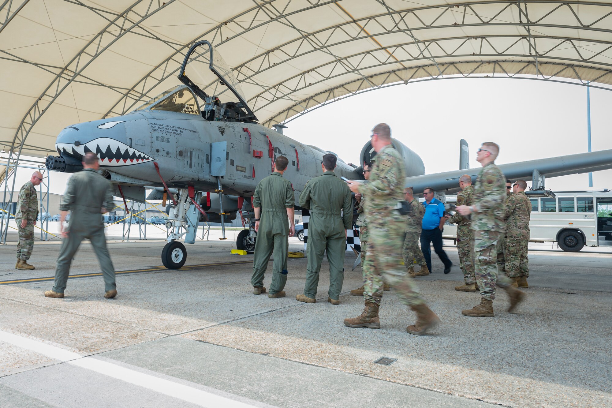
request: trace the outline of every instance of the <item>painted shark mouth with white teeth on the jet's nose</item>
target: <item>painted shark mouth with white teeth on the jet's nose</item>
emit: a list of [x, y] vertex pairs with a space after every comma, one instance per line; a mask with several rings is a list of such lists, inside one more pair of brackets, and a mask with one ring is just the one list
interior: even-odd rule
[[82, 159], [85, 153], [93, 152], [100, 158], [100, 165], [125, 166], [151, 162], [153, 159], [125, 143], [113, 138], [100, 137], [83, 145], [76, 143], [56, 143], [55, 148], [60, 155]]

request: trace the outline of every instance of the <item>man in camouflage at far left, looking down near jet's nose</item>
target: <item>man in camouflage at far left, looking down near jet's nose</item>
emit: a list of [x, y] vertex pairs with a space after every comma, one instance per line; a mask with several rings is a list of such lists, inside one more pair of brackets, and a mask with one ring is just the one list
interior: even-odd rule
[[38, 186], [42, 181], [42, 173], [34, 172], [28, 183], [23, 184], [19, 191], [17, 199], [17, 214], [15, 214], [15, 222], [17, 222], [17, 231], [19, 233], [19, 241], [17, 242], [17, 263], [15, 268], [21, 270], [32, 270], [34, 266], [27, 262], [32, 255], [34, 248], [34, 225], [38, 218], [38, 196], [35, 186]]

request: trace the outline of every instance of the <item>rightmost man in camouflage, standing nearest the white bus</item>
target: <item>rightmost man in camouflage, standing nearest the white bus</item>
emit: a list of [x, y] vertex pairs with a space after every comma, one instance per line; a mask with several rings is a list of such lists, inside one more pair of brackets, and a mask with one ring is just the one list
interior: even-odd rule
[[528, 287], [529, 260], [527, 246], [529, 244], [529, 218], [531, 217], [531, 202], [525, 189], [527, 183], [518, 180], [514, 183], [513, 193], [506, 200], [506, 271], [513, 285]]

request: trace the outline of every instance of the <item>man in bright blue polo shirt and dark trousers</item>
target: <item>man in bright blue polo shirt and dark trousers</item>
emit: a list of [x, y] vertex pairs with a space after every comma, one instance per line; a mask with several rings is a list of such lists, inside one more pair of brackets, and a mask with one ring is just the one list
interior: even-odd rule
[[[423, 230], [421, 232], [420, 242], [421, 251], [425, 257], [425, 263], [427, 268], [431, 271], [431, 249], [430, 245], [433, 243], [433, 249], [436, 254], [440, 257], [442, 263], [444, 263], [444, 273], [450, 272], [450, 266], [453, 265], [450, 262], [449, 257], [442, 249], [442, 229], [444, 229], [444, 204], [436, 198], [433, 198], [433, 189], [427, 187], [423, 191], [423, 197], [425, 197], [425, 215], [423, 216]], [[417, 273], [417, 275], [419, 275]]]

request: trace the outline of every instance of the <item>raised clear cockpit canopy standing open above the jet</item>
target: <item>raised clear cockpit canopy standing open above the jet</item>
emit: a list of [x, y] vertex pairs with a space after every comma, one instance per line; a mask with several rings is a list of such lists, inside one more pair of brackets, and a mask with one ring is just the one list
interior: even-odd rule
[[179, 80], [207, 103], [211, 103], [215, 97], [222, 103], [237, 102], [249, 116], [255, 117], [232, 70], [207, 41], [195, 43], [190, 48], [183, 61]]

